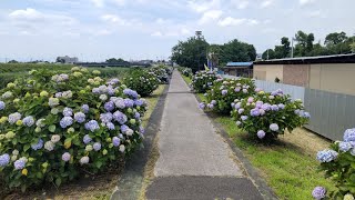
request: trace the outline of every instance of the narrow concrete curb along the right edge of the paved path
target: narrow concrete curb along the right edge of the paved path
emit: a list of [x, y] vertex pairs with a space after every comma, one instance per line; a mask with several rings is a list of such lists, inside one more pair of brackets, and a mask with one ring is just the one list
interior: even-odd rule
[[[194, 93], [196, 100], [201, 102], [200, 97]], [[239, 149], [235, 143], [231, 140], [230, 136], [226, 133], [224, 128], [221, 123], [213, 120], [212, 116], [207, 112], [205, 114], [210, 118], [212, 124], [217, 129], [217, 132], [223, 137], [223, 139], [226, 141], [231, 150], [235, 153], [237, 159], [241, 161], [243, 168], [245, 169], [245, 172], [248, 174], [252, 182], [255, 184], [258, 192], [263, 196], [265, 200], [274, 200], [278, 199], [277, 196], [274, 193], [274, 191], [267, 186], [265, 180], [258, 174], [256, 169], [252, 166], [252, 163], [247, 160], [247, 158], [244, 156], [241, 149]]]

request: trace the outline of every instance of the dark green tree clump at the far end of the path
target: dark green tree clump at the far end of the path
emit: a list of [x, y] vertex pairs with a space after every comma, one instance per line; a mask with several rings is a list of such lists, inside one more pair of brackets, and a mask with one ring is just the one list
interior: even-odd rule
[[180, 66], [191, 68], [193, 71], [204, 69], [207, 58], [213, 66], [226, 62], [254, 61], [256, 50], [253, 44], [248, 44], [236, 39], [224, 44], [210, 44], [203, 36], [196, 34], [186, 41], [179, 41], [172, 48], [171, 60]]

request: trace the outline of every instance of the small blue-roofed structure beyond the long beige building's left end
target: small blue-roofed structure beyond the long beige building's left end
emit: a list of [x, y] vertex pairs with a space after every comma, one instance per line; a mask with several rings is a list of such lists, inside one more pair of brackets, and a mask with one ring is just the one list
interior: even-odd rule
[[236, 77], [253, 77], [253, 62], [229, 62], [223, 68], [225, 74]]

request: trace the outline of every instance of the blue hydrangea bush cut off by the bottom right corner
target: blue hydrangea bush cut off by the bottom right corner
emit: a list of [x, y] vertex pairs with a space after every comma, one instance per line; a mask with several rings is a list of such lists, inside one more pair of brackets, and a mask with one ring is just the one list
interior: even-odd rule
[[[355, 196], [355, 128], [344, 132], [343, 141], [334, 142], [329, 149], [320, 151], [317, 160], [325, 177], [335, 182], [338, 191], [328, 192], [329, 199], [354, 200]], [[324, 193], [320, 194], [320, 190]], [[326, 189], [316, 187], [312, 194], [315, 199], [326, 198]]]

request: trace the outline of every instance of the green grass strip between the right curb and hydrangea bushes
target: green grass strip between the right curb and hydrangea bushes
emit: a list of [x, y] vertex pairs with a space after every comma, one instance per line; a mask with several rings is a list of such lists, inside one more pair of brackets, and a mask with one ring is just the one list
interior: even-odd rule
[[[189, 78], [184, 77], [184, 79], [186, 82], [191, 81]], [[202, 93], [197, 96], [201, 100], [205, 99]], [[335, 189], [329, 180], [317, 172], [318, 162], [314, 153], [285, 139], [280, 139], [274, 144], [251, 140], [230, 117], [215, 116], [213, 120], [222, 124], [236, 147], [243, 151], [281, 199], [312, 199], [312, 190], [316, 186]], [[326, 141], [322, 142], [326, 143]]]

